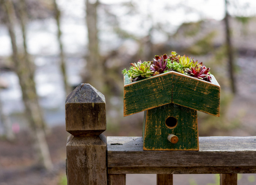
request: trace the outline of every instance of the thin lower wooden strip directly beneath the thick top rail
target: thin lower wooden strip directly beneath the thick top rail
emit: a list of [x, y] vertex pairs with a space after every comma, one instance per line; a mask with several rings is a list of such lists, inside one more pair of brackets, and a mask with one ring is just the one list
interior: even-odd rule
[[255, 166], [243, 167], [108, 167], [111, 174], [213, 174], [256, 173]]

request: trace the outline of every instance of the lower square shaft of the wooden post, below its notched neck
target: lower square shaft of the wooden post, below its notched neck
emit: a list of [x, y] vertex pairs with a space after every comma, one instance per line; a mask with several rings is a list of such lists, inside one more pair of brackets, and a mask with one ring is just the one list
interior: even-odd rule
[[107, 185], [106, 137], [69, 137], [67, 142], [68, 185]]

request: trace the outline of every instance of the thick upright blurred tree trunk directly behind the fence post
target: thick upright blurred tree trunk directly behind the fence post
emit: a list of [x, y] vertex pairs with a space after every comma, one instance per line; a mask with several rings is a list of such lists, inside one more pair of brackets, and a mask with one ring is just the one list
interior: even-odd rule
[[99, 2], [91, 3], [86, 0], [86, 23], [88, 31], [88, 55], [86, 59], [86, 69], [84, 82], [90, 83], [97, 90], [103, 92], [104, 72], [103, 60], [99, 53], [99, 39], [97, 28], [97, 6]]

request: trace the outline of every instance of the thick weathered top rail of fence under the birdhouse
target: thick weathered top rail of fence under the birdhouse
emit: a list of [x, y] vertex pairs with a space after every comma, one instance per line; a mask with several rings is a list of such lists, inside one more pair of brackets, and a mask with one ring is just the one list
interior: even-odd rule
[[144, 151], [142, 137], [108, 137], [108, 167], [256, 167], [256, 137], [199, 137], [199, 143], [199, 151]]

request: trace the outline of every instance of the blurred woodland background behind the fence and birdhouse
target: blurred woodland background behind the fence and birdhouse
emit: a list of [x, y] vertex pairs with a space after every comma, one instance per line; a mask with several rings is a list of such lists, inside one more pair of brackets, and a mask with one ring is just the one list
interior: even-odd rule
[[106, 97], [105, 135], [141, 136], [143, 113], [123, 117], [121, 70], [171, 51], [202, 61], [221, 86], [221, 116], [198, 112], [199, 136], [255, 135], [254, 1], [0, 2], [0, 182], [26, 166], [65, 184], [65, 97], [80, 83]]

